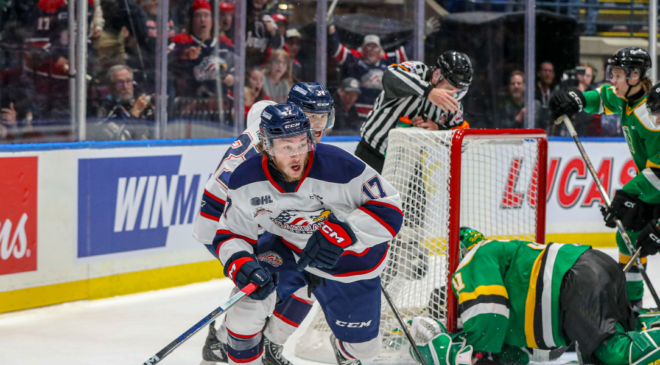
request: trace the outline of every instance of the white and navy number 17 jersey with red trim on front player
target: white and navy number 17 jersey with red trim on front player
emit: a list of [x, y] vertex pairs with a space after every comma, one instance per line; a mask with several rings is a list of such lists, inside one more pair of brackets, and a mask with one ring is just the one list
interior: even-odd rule
[[319, 143], [295, 183], [271, 174], [268, 159], [255, 156], [232, 174], [225, 210], [213, 240], [224, 265], [236, 252], [254, 252], [259, 227], [280, 236], [298, 260], [312, 233], [330, 212], [347, 222], [357, 242], [317, 276], [353, 282], [378, 276], [387, 264], [388, 241], [403, 221], [401, 199], [375, 170], [348, 152]]

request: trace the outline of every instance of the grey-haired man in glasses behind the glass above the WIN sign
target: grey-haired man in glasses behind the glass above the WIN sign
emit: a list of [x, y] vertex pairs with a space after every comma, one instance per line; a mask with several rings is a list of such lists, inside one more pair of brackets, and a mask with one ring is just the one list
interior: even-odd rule
[[[115, 65], [108, 70], [111, 95], [90, 111], [99, 121], [89, 123], [91, 140], [149, 139], [153, 135], [154, 105], [151, 97], [135, 97], [133, 70]], [[90, 116], [91, 116], [90, 115]]]

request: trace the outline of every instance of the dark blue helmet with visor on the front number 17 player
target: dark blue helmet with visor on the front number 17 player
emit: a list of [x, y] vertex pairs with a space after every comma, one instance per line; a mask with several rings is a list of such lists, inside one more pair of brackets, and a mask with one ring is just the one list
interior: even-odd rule
[[[287, 102], [267, 106], [261, 112], [259, 133], [264, 148], [271, 156], [293, 156], [313, 151], [316, 146], [309, 118], [296, 104]], [[295, 137], [304, 136], [298, 140]], [[275, 146], [276, 139], [291, 139]], [[290, 143], [289, 143], [290, 142]]]

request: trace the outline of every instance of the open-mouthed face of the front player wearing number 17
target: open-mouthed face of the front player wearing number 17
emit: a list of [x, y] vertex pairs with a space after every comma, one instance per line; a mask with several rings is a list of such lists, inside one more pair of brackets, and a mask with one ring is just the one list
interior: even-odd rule
[[309, 146], [310, 143], [305, 134], [273, 140], [272, 155], [275, 166], [289, 180], [300, 180], [305, 171]]

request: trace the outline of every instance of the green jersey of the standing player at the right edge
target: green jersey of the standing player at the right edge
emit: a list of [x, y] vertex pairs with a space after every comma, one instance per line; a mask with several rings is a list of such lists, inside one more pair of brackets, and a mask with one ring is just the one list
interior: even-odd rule
[[610, 85], [583, 95], [587, 101], [585, 112], [621, 116], [621, 128], [638, 172], [623, 190], [637, 195], [645, 203], [660, 204], [660, 125], [649, 118], [646, 96], [630, 106]]

